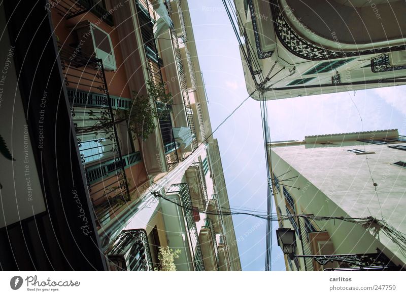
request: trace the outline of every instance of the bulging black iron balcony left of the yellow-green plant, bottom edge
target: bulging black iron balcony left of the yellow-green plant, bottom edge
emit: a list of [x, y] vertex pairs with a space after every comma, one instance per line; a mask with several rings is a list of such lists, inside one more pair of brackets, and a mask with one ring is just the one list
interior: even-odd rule
[[111, 271], [154, 271], [147, 232], [123, 230], [108, 251]]

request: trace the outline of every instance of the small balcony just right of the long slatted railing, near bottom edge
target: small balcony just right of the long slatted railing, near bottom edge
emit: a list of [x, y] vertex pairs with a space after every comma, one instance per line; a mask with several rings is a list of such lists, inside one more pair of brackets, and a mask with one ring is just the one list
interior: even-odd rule
[[217, 271], [219, 267], [219, 253], [213, 221], [205, 219], [205, 225], [200, 229], [199, 241], [203, 262], [207, 271]]

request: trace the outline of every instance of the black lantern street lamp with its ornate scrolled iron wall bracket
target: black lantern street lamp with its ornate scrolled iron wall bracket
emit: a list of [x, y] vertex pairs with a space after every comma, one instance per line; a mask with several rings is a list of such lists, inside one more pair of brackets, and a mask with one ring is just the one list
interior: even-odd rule
[[396, 266], [385, 254], [377, 249], [376, 253], [362, 254], [342, 254], [342, 255], [296, 255], [295, 231], [289, 228], [279, 228], [276, 230], [278, 245], [290, 260], [295, 258], [311, 258], [318, 264], [325, 265], [329, 262], [348, 263], [358, 266], [361, 270], [381, 268], [382, 270], [402, 270]]

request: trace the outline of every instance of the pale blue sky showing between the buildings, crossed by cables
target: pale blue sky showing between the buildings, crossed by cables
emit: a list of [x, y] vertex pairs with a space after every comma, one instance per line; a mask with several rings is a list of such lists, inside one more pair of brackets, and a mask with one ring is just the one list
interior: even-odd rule
[[[189, 1], [213, 130], [247, 96], [232, 27], [219, 0]], [[406, 87], [268, 101], [272, 141], [302, 140], [307, 135], [399, 129], [406, 134]], [[361, 113], [362, 123], [357, 109]], [[362, 125], [361, 125], [362, 124]], [[266, 165], [259, 103], [249, 99], [214, 134], [218, 139], [230, 206], [266, 210]], [[275, 212], [275, 209], [274, 209]], [[263, 220], [234, 216], [243, 270], [263, 270]], [[273, 226], [272, 270], [285, 270]]]

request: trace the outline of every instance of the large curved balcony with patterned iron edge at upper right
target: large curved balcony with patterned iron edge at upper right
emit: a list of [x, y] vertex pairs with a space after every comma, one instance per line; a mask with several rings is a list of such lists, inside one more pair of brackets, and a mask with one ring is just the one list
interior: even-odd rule
[[[333, 22], [330, 25], [328, 25], [327, 27], [329, 28], [328, 30], [337, 32], [337, 36], [341, 35], [337, 39], [337, 40], [340, 40], [340, 43], [337, 43], [337, 42], [335, 42], [335, 40], [333, 40], [333, 37], [330, 34], [330, 31], [327, 35], [324, 35], [322, 32], [317, 33], [317, 31], [319, 31], [319, 29], [322, 29], [320, 26], [316, 25], [314, 27], [316, 29], [312, 28], [316, 24], [315, 21], [317, 21], [316, 18], [312, 18], [312, 15], [314, 15], [314, 14], [319, 15], [319, 14], [317, 14], [317, 12], [315, 12], [313, 10], [312, 13], [308, 13], [307, 9], [309, 7], [304, 8], [304, 4], [301, 2], [296, 2], [296, 1], [284, 1], [284, 2], [286, 2], [286, 3], [282, 6], [280, 4], [280, 1], [278, 1], [278, 0], [270, 1], [270, 10], [272, 12], [271, 19], [273, 20], [274, 28], [269, 28], [269, 26], [266, 26], [266, 24], [264, 24], [264, 27], [269, 28], [269, 29], [274, 29], [275, 33], [278, 36], [278, 39], [282, 43], [282, 45], [289, 52], [291, 52], [295, 56], [300, 57], [302, 59], [312, 60], [312, 61], [331, 60], [331, 59], [336, 59], [336, 58], [358, 57], [360, 55], [385, 53], [385, 52], [389, 52], [389, 51], [393, 52], [393, 51], [405, 49], [404, 44], [401, 42], [399, 43], [399, 40], [401, 39], [401, 35], [402, 35], [401, 30], [399, 31], [400, 27], [397, 27], [397, 28], [391, 30], [391, 33], [394, 33], [394, 32], [399, 33], [399, 35], [393, 39], [388, 37], [385, 34], [382, 34], [383, 31], [381, 31], [380, 27], [377, 29], [371, 30], [371, 32], [374, 32], [374, 34], [382, 34], [381, 40], [386, 40], [384, 43], [379, 42], [378, 41], [379, 38], [377, 38], [375, 41], [373, 41], [373, 43], [371, 43], [371, 40], [373, 40], [373, 39], [371, 39], [372, 37], [369, 34], [368, 35], [363, 34], [360, 37], [361, 38], [366, 37], [368, 39], [366, 41], [365, 40], [357, 41], [357, 43], [354, 45], [353, 41], [356, 39], [354, 39], [354, 35], [351, 33], [352, 30], [350, 30], [349, 31], [350, 33], [349, 33], [346, 30], [331, 29], [331, 25], [333, 23], [334, 23], [334, 26], [337, 26], [337, 24], [340, 23], [340, 22]], [[254, 6], [253, 6], [252, 0], [248, 0], [248, 3], [250, 6], [251, 15], [263, 15], [263, 14], [261, 14], [263, 12], [262, 9], [259, 12], [253, 10]], [[324, 2], [320, 3], [320, 4], [324, 4]], [[321, 15], [326, 15], [326, 13], [331, 9], [331, 7], [327, 7], [327, 6], [326, 7], [324, 7], [322, 5], [319, 6], [319, 9], [321, 9], [323, 12], [323, 13], [321, 13]], [[269, 5], [268, 5], [268, 7], [269, 7]], [[268, 9], [268, 7], [267, 7], [267, 9]], [[281, 9], [281, 7], [283, 7], [283, 9]], [[336, 9], [337, 7], [334, 7], [334, 9]], [[345, 7], [345, 8], [348, 9], [348, 7]], [[308, 18], [300, 19], [300, 17], [295, 16], [295, 14], [297, 12], [302, 13], [303, 16], [307, 15], [307, 17], [309, 19]], [[297, 24], [295, 22], [291, 21], [292, 16], [289, 16], [289, 14], [292, 14], [292, 13], [293, 13], [293, 17], [296, 17], [296, 19], [300, 20], [300, 22], [297, 22]], [[397, 13], [400, 13], [400, 11]], [[337, 16], [340, 16], [340, 18], [342, 16], [347, 15], [347, 13], [340, 14], [340, 13], [337, 13], [337, 11], [335, 11], [335, 14]], [[364, 15], [364, 13], [363, 13], [363, 15]], [[358, 16], [359, 16], [359, 12], [358, 12]], [[318, 18], [318, 19], [323, 19], [323, 18]], [[373, 20], [374, 18], [369, 17], [366, 19]], [[390, 18], [387, 18], [387, 19], [389, 20]], [[309, 22], [309, 20], [310, 20], [310, 23], [306, 23], [306, 22]], [[358, 20], [360, 20], [360, 19], [358, 19]], [[328, 21], [331, 22], [331, 19], [328, 19]], [[340, 21], [343, 21], [343, 19], [341, 18]], [[365, 26], [365, 24], [364, 24], [364, 26]], [[390, 26], [390, 24], [389, 24], [389, 26]], [[326, 26], [322, 26], [322, 27], [326, 27]], [[367, 25], [365, 28], [368, 28], [368, 27], [370, 27], [370, 26]], [[318, 35], [317, 40], [309, 41], [308, 38], [302, 37], [302, 35], [304, 34], [307, 37], [313, 38], [312, 34], [307, 34], [304, 31], [304, 28], [306, 28], [306, 29], [310, 28], [310, 30], [312, 30], [313, 32], [316, 32], [315, 35]], [[387, 25], [385, 25], [385, 28], [387, 28]], [[344, 29], [348, 30], [348, 27], [344, 28]], [[254, 27], [254, 31], [261, 32], [261, 30], [256, 30], [255, 27]], [[301, 32], [301, 31], [303, 31], [303, 32]], [[345, 34], [345, 36], [342, 34]], [[327, 36], [328, 39], [323, 36]], [[334, 34], [334, 36], [336, 36], [336, 35]], [[256, 36], [256, 39], [258, 39], [257, 36]], [[345, 39], [347, 39], [347, 41], [345, 41]], [[340, 45], [340, 47], [337, 47], [337, 45]], [[389, 45], [389, 47], [388, 47], [388, 45]], [[330, 50], [328, 48], [335, 48], [335, 50]], [[265, 56], [265, 57], [267, 57], [267, 56]]]

